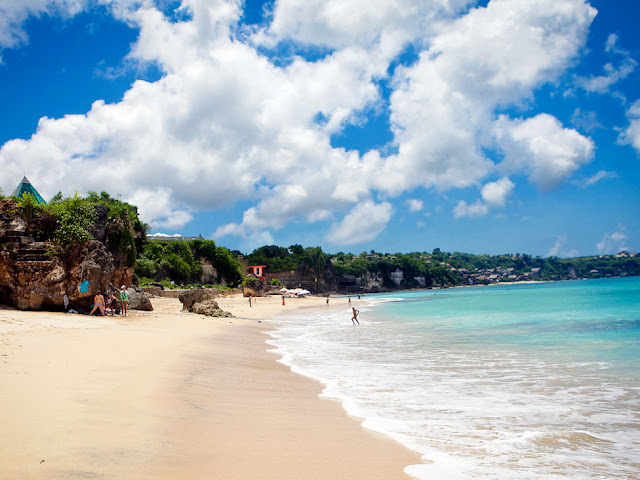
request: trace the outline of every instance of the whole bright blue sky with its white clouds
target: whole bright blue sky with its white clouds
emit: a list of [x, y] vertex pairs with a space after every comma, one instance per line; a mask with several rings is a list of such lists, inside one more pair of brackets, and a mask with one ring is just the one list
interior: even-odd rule
[[640, 250], [636, 0], [0, 0], [0, 188], [249, 252]]

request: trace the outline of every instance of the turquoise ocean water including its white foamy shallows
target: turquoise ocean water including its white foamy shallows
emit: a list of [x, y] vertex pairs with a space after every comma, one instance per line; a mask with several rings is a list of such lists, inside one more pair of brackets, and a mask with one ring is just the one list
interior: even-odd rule
[[268, 343], [424, 480], [640, 478], [640, 278], [352, 297]]

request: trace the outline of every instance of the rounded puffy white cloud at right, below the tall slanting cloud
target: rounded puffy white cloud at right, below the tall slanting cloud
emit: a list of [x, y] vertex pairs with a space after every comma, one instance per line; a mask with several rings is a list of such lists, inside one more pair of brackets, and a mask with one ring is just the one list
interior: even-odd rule
[[556, 188], [594, 155], [591, 139], [563, 128], [555, 117], [547, 114], [526, 120], [500, 116], [495, 134], [505, 152], [500, 169], [524, 172], [542, 191]]

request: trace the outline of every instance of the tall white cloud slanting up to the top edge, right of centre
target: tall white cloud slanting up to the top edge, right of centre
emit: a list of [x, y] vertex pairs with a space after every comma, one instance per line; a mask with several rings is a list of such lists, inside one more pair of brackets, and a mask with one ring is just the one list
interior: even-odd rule
[[[418, 62], [396, 71], [390, 107], [398, 154], [386, 162], [379, 188], [394, 194], [481, 181], [495, 168], [483, 153], [495, 110], [521, 105], [556, 79], [594, 16], [578, 0], [494, 0], [443, 28]], [[566, 143], [549, 139], [550, 147], [555, 140]]]

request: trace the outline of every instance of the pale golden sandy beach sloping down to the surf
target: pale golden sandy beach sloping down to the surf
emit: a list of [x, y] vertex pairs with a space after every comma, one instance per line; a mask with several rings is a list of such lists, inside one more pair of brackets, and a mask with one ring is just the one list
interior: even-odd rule
[[[268, 352], [268, 319], [324, 298], [219, 299], [236, 318], [0, 307], [1, 479], [409, 479], [420, 456], [363, 429]], [[345, 317], [349, 322], [349, 317]]]

